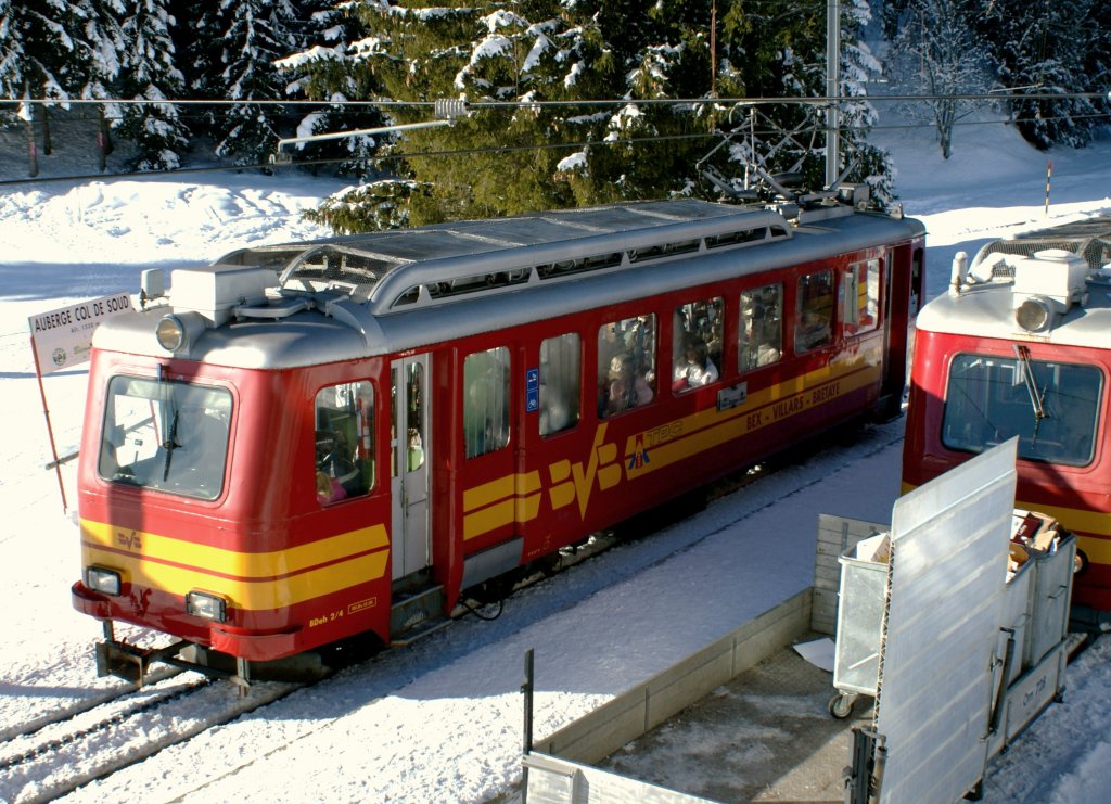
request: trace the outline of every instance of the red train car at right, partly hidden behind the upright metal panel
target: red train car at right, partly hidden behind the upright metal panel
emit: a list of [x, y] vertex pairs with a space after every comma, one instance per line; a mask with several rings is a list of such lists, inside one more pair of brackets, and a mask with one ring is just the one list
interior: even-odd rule
[[917, 321], [902, 480], [1018, 436], [1015, 505], [1075, 533], [1074, 619], [1108, 622], [1111, 225], [1093, 225], [990, 243], [971, 265], [958, 255]]

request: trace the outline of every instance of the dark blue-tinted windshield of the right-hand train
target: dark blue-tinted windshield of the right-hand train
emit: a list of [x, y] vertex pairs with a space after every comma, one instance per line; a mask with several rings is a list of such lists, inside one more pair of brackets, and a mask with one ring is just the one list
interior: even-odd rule
[[1019, 458], [1072, 466], [1092, 461], [1103, 375], [1092, 365], [960, 354], [949, 371], [942, 443], [983, 452], [1019, 436]]

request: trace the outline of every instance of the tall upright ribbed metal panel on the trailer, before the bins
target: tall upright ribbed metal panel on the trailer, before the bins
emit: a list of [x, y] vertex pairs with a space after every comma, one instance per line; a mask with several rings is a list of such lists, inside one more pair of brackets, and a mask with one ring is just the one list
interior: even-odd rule
[[881, 802], [952, 802], [982, 778], [1017, 441], [897, 501], [874, 728]]

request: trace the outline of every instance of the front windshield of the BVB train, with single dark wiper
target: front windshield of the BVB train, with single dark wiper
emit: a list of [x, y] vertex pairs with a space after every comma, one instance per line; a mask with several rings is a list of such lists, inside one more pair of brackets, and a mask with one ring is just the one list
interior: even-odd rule
[[114, 376], [98, 472], [113, 483], [214, 500], [223, 489], [230, 423], [226, 389]]

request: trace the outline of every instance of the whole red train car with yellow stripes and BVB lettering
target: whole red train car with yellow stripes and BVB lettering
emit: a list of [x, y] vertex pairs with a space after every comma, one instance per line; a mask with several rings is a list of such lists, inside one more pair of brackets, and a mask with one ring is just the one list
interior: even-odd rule
[[72, 599], [101, 670], [388, 642], [897, 412], [923, 238], [828, 199], [677, 200], [247, 249], [168, 295], [151, 273], [93, 343]]

